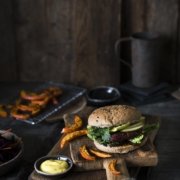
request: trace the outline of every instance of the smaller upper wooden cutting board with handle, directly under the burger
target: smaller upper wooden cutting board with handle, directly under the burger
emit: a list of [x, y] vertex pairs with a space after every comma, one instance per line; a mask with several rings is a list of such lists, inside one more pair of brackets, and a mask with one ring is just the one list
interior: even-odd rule
[[[83, 109], [83, 111], [79, 112], [78, 115], [83, 119], [84, 128], [87, 125], [87, 119], [89, 114], [93, 111], [92, 107], [88, 107]], [[65, 124], [69, 124], [73, 122], [73, 114], [66, 114], [64, 116]], [[147, 123], [154, 123], [160, 121], [160, 118], [157, 116], [146, 116]], [[97, 170], [97, 169], [106, 169], [107, 179], [123, 179], [123, 177], [115, 177], [112, 176], [110, 172], [108, 172], [107, 164], [112, 159], [116, 159], [118, 161], [118, 166], [120, 167], [120, 171], [124, 175], [124, 178], [129, 176], [127, 166], [156, 166], [158, 163], [158, 154], [153, 145], [154, 138], [156, 136], [157, 131], [153, 131], [146, 142], [146, 144], [129, 153], [126, 154], [112, 154], [112, 158], [106, 159], [97, 159], [95, 161], [87, 161], [80, 156], [79, 147], [82, 145], [87, 145], [88, 147], [94, 147], [93, 141], [90, 140], [87, 136], [80, 137], [70, 142], [70, 154], [71, 158], [76, 165], [78, 170]]]

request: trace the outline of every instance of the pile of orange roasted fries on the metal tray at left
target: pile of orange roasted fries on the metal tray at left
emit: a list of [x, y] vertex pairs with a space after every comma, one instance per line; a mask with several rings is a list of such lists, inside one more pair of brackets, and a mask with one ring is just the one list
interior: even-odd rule
[[62, 95], [62, 89], [49, 87], [39, 92], [27, 92], [22, 90], [14, 105], [0, 106], [0, 117], [8, 115], [18, 119], [26, 120], [39, 114], [48, 104], [57, 104], [57, 98]]

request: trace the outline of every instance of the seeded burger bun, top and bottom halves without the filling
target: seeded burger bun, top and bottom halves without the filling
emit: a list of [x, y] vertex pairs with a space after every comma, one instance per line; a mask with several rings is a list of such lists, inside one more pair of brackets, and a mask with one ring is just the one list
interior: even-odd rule
[[[104, 106], [94, 110], [89, 118], [88, 125], [95, 126], [99, 128], [118, 126], [125, 123], [133, 123], [139, 121], [141, 118], [141, 112], [138, 111], [137, 108], [133, 106], [127, 105], [111, 105]], [[132, 143], [124, 143], [119, 146], [109, 146], [103, 145], [94, 140], [94, 145], [97, 149], [108, 152], [108, 153], [128, 153], [133, 151], [141, 146], [143, 146], [147, 141], [147, 137], [145, 137], [141, 144], [132, 144]]]

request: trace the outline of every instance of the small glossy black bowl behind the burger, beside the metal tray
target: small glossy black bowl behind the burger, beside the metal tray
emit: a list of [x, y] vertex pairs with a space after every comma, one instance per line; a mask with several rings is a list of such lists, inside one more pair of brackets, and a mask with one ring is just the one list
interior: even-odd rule
[[90, 105], [103, 106], [116, 102], [120, 98], [119, 90], [112, 86], [98, 86], [87, 91], [87, 100]]

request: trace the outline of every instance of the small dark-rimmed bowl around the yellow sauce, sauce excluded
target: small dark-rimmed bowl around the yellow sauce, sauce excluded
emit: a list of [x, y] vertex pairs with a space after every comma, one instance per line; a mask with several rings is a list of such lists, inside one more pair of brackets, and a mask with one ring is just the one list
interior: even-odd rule
[[[50, 160], [50, 159], [66, 161], [69, 165], [69, 168], [63, 173], [56, 173], [56, 174], [49, 174], [49, 173], [41, 171], [41, 169], [40, 169], [41, 163], [43, 163], [46, 160]], [[69, 158], [68, 156], [65, 156], [65, 155], [44, 156], [44, 157], [41, 157], [38, 160], [36, 160], [36, 162], [34, 163], [35, 171], [40, 175], [48, 176], [48, 177], [63, 177], [69, 173], [69, 171], [72, 169], [72, 167], [73, 167], [73, 161], [71, 160], [71, 158]]]

